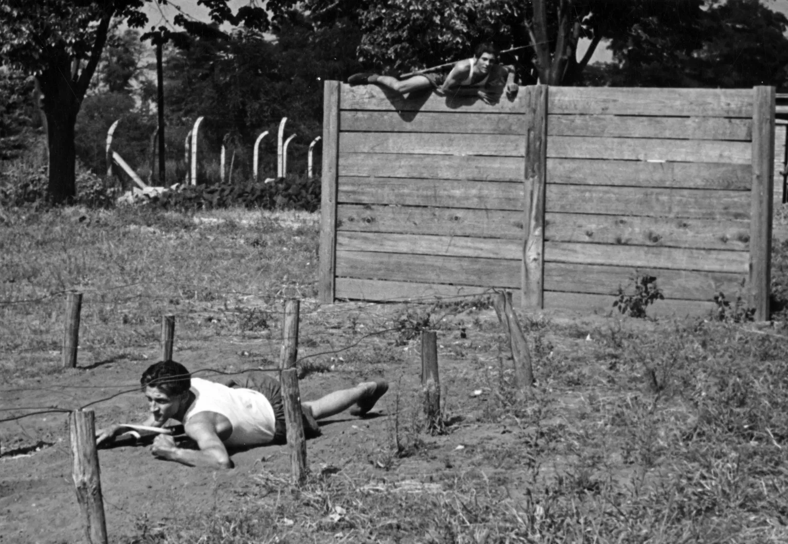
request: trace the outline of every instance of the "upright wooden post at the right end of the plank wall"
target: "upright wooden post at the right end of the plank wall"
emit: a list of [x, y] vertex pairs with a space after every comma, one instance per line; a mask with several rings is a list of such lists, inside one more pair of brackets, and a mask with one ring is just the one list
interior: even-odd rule
[[753, 192], [749, 234], [749, 292], [755, 319], [769, 319], [771, 205], [775, 175], [775, 88], [753, 89]]

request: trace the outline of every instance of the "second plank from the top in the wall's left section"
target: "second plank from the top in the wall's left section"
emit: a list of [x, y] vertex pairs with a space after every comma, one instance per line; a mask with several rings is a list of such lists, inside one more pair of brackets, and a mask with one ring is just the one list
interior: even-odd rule
[[451, 132], [452, 134], [519, 134], [525, 133], [522, 114], [474, 114], [419, 111], [343, 111], [343, 132]]

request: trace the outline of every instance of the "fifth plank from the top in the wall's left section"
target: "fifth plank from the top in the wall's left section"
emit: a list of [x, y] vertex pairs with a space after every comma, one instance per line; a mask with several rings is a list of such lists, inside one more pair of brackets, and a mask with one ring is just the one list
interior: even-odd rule
[[524, 184], [507, 181], [340, 177], [337, 202], [522, 210]]

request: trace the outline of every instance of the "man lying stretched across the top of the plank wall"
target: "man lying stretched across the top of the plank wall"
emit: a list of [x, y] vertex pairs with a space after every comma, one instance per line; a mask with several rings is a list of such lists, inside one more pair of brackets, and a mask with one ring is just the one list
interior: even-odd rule
[[432, 88], [440, 96], [478, 96], [488, 104], [500, 100], [506, 89], [507, 98], [515, 99], [518, 86], [507, 83], [513, 70], [498, 64], [500, 50], [485, 42], [476, 47], [473, 58], [457, 61], [448, 75], [424, 73], [399, 80], [373, 72], [356, 73], [348, 77], [351, 85], [377, 84], [400, 94]]

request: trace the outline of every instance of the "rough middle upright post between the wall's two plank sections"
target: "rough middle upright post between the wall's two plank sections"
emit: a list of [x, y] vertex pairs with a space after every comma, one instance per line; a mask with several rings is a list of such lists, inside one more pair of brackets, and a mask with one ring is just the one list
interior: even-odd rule
[[526, 87], [525, 237], [522, 305], [544, 307], [545, 183], [547, 182], [547, 85]]

